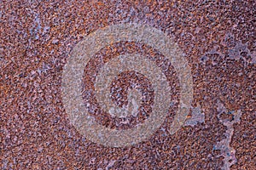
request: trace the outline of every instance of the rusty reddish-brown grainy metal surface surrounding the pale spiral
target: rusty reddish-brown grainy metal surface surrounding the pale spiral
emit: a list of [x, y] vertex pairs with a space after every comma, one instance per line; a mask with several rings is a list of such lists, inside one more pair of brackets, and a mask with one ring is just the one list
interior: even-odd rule
[[[2, 1], [1, 168], [255, 169], [256, 3], [193, 2]], [[61, 77], [73, 47], [84, 37], [105, 26], [131, 22], [174, 38], [191, 67], [192, 106], [205, 117], [172, 135], [167, 132], [179, 99], [171, 67], [174, 102], [163, 125], [142, 143], [111, 148], [90, 142], [70, 123], [61, 99]], [[129, 43], [109, 48], [119, 45], [128, 48]], [[131, 50], [140, 45], [131, 44]], [[150, 48], [143, 48], [142, 53], [150, 53]], [[112, 49], [102, 49], [99, 55], [108, 50]], [[188, 119], [196, 111], [191, 109]], [[232, 122], [238, 111], [240, 119]], [[219, 149], [219, 144], [226, 145]]]

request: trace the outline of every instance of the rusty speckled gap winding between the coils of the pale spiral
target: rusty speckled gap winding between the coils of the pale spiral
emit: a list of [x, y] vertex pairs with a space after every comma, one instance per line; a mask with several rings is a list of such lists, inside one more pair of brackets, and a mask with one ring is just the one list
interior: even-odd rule
[[[102, 53], [101, 53], [102, 52]], [[175, 99], [175, 101], [173, 102], [177, 105], [177, 97], [178, 97], [178, 87], [177, 84], [175, 84], [175, 82], [177, 82], [179, 84], [179, 82], [177, 81], [177, 77], [176, 73], [172, 67], [172, 65], [168, 65], [168, 63], [164, 63], [164, 61], [162, 61], [164, 59], [164, 56], [161, 55], [160, 53], [157, 53], [157, 51], [155, 51], [154, 49], [147, 47], [146, 45], [143, 45], [141, 43], [136, 43], [136, 42], [119, 42], [119, 43], [113, 43], [112, 48], [103, 48], [99, 54], [96, 54], [96, 61], [93, 63], [94, 60], [91, 60], [88, 65], [85, 67], [84, 72], [86, 72], [86, 75], [84, 75], [84, 88], [86, 88], [89, 93], [90, 93], [90, 89], [93, 88], [93, 85], [95, 82], [95, 78], [93, 75], [95, 75], [95, 71], [90, 71], [90, 67], [95, 65], [101, 65], [101, 60], [100, 59], [104, 59], [107, 58], [105, 62], [108, 62], [109, 58], [112, 58], [114, 56], [116, 56], [117, 54], [132, 54], [132, 53], [138, 53], [141, 54], [142, 56], [148, 56], [151, 57], [151, 59], [154, 59], [154, 56], [157, 55], [157, 57], [155, 57], [158, 60], [158, 65], [162, 64], [162, 67], [166, 67], [168, 68], [168, 71], [166, 71], [166, 78], [168, 80], [168, 82], [172, 83], [171, 84], [171, 93], [172, 93], [172, 100]], [[108, 55], [107, 55], [108, 54]], [[162, 59], [160, 59], [162, 58]], [[104, 59], [105, 60], [105, 59]], [[161, 62], [160, 62], [161, 60]], [[91, 64], [90, 64], [91, 63]], [[164, 63], [164, 64], [163, 64]], [[98, 68], [99, 69], [99, 68]], [[174, 77], [172, 77], [172, 75], [174, 75]], [[123, 77], [123, 78], [122, 78]], [[126, 78], [125, 78], [126, 77]], [[131, 78], [130, 78], [131, 77]], [[90, 80], [91, 79], [91, 80]], [[145, 80], [144, 80], [145, 79]], [[125, 81], [125, 82], [124, 82]], [[140, 82], [141, 81], [141, 82]], [[128, 71], [128, 72], [123, 72], [121, 75], [119, 75], [118, 79], [113, 80], [112, 83], [112, 88], [110, 88], [111, 91], [113, 91], [113, 99], [116, 100], [117, 105], [119, 106], [123, 106], [125, 103], [127, 105], [127, 89], [128, 88], [133, 88], [133, 87], [137, 87], [138, 91], [142, 91], [142, 94], [145, 95], [143, 98], [143, 104], [140, 108], [140, 112], [139, 115], [137, 117], [129, 117], [127, 120], [119, 118], [119, 117], [114, 117], [113, 122], [110, 122], [109, 120], [109, 114], [108, 113], [97, 113], [97, 111], [91, 111], [93, 107], [98, 107], [95, 105], [90, 105], [89, 111], [93, 114], [96, 114], [96, 117], [99, 117], [98, 119], [102, 121], [102, 124], [107, 126], [107, 127], [115, 127], [115, 128], [122, 128], [122, 127], [132, 127], [132, 125], [136, 125], [137, 121], [138, 122], [143, 122], [143, 120], [145, 120], [147, 118], [147, 116], [149, 116], [150, 111], [152, 110], [151, 106], [154, 102], [154, 91], [152, 88], [152, 83], [149, 82], [150, 80], [148, 80], [147, 77], [144, 77], [143, 75], [137, 74], [134, 71]], [[91, 83], [88, 83], [91, 82]], [[140, 83], [139, 83], [140, 82]], [[86, 85], [85, 85], [86, 83]], [[114, 85], [114, 86], [113, 86]], [[90, 87], [92, 86], [92, 87]], [[86, 94], [84, 89], [84, 95]], [[123, 95], [122, 95], [123, 94]], [[93, 98], [93, 96], [88, 95], [84, 96], [84, 100], [90, 100], [91, 103], [95, 103], [96, 99]], [[86, 104], [85, 104], [86, 105]], [[171, 107], [170, 109], [173, 109], [174, 107]], [[170, 111], [170, 113], [173, 113], [175, 111]], [[107, 116], [104, 119], [101, 119], [101, 116]], [[130, 121], [131, 119], [131, 121]], [[137, 120], [136, 120], [137, 119]], [[142, 119], [140, 121], [140, 119]], [[120, 122], [122, 121], [130, 121], [127, 124], [120, 124]], [[101, 123], [101, 122], [100, 122]], [[107, 124], [109, 123], [109, 124]]]

